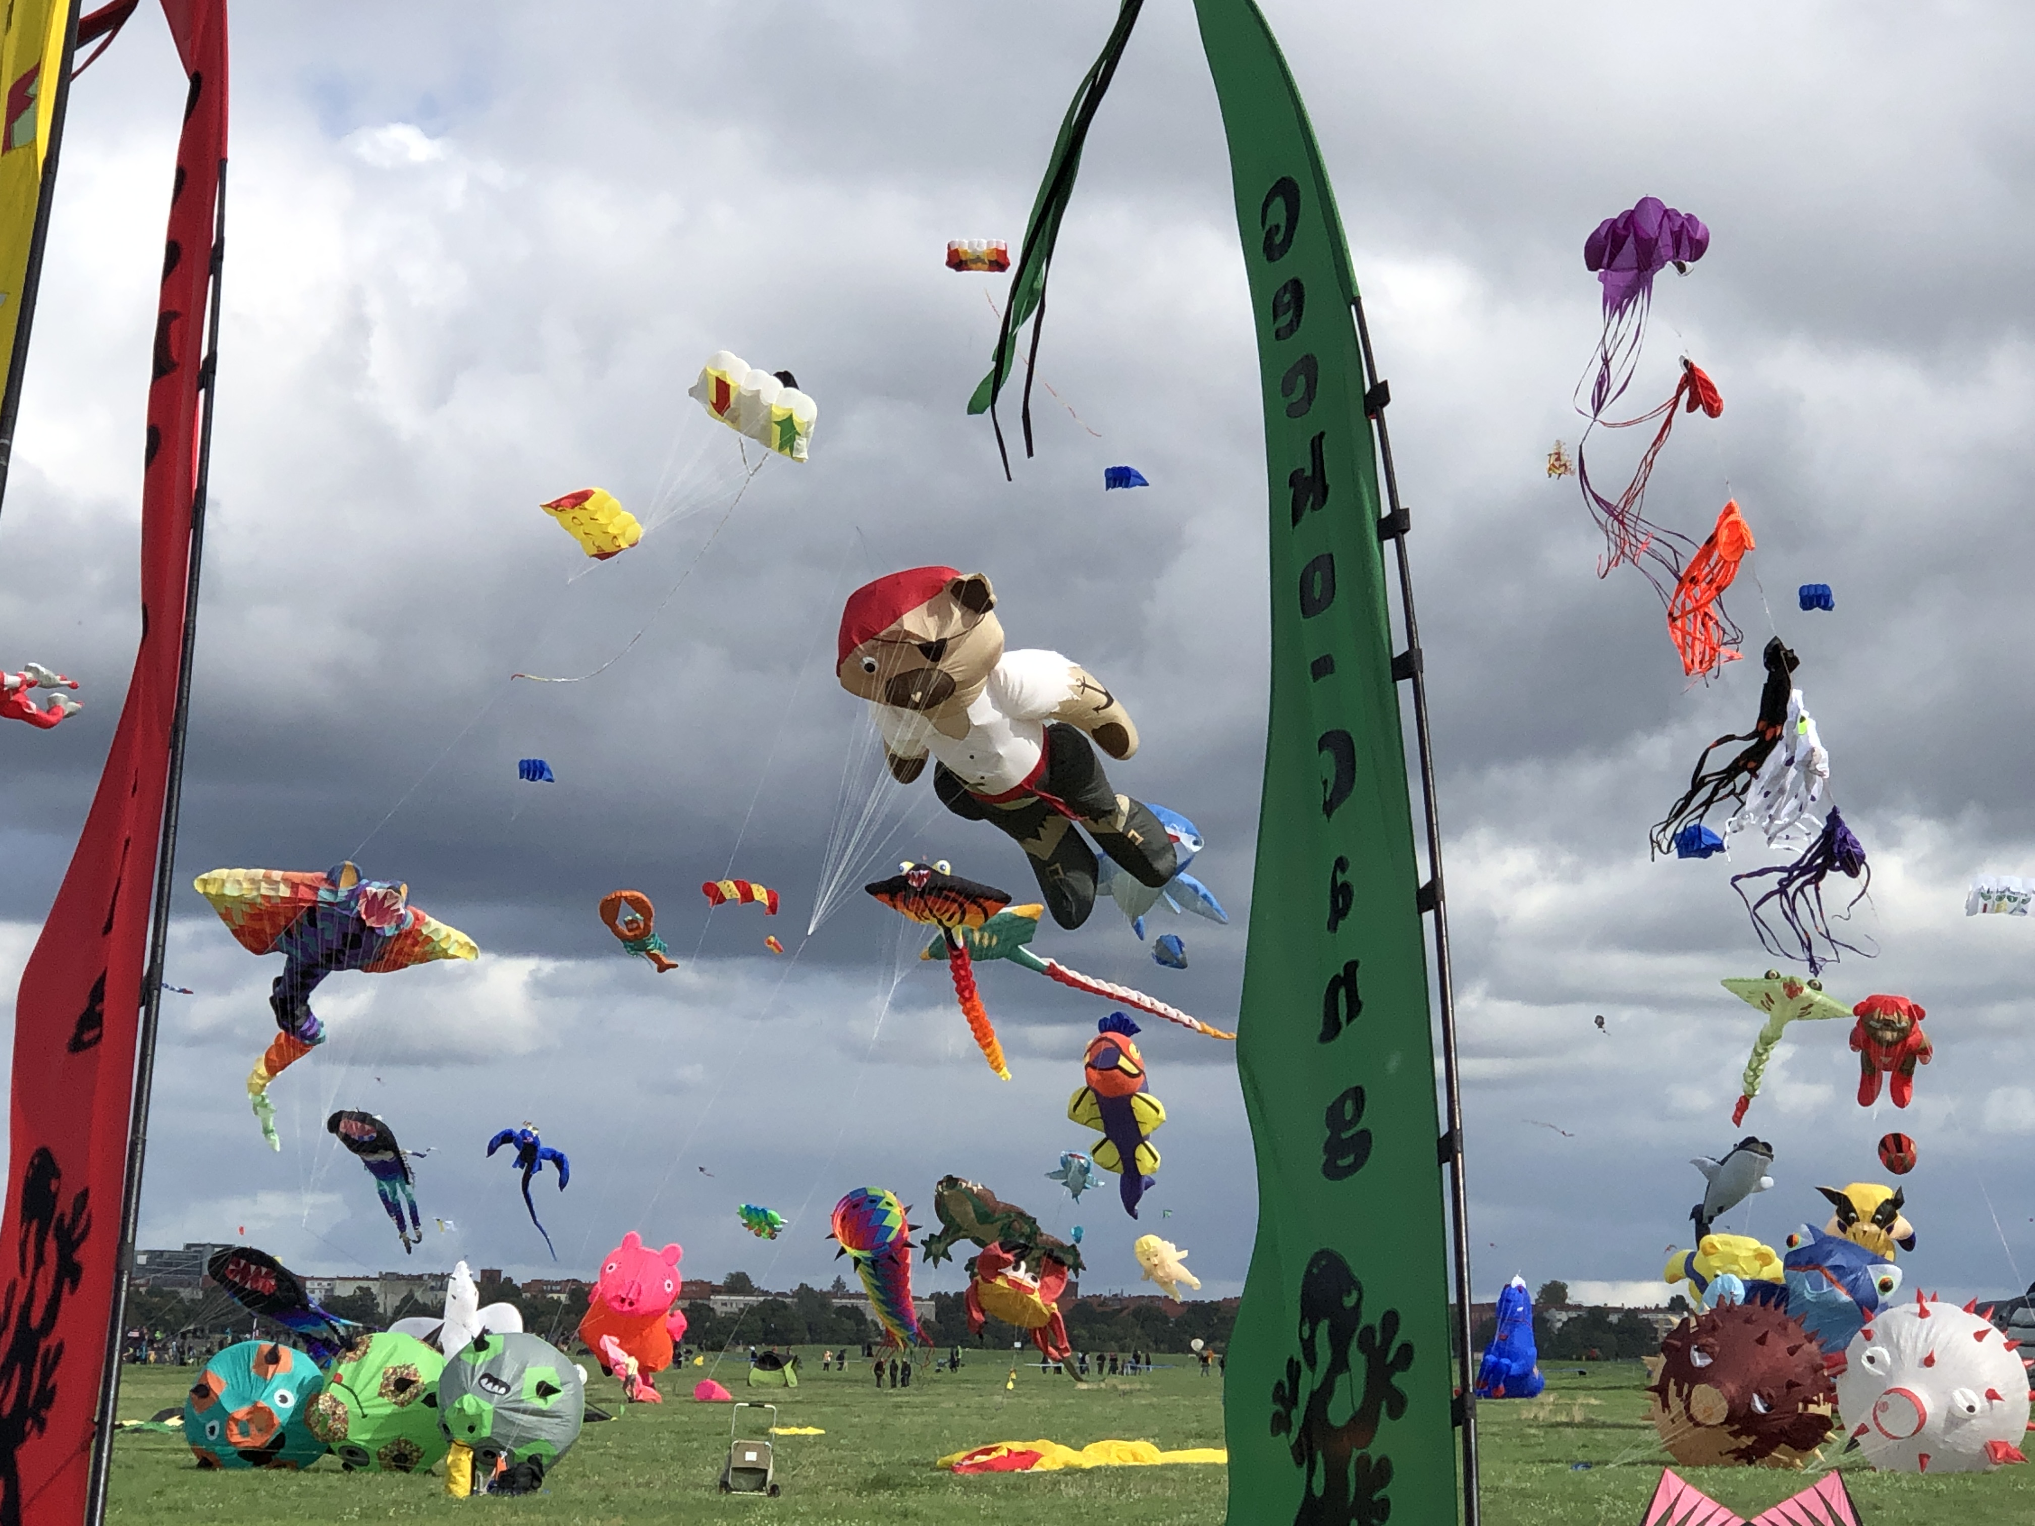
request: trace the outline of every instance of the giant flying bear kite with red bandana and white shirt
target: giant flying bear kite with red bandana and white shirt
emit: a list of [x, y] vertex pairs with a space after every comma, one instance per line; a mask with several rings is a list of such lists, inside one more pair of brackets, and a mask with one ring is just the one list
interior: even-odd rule
[[869, 700], [891, 777], [932, 787], [956, 816], [993, 822], [1032, 861], [1062, 928], [1095, 907], [1097, 859], [1079, 822], [1133, 879], [1172, 879], [1172, 840], [1152, 810], [1109, 787], [1091, 739], [1121, 761], [1138, 728], [1117, 698], [1056, 651], [1005, 651], [989, 578], [912, 568], [849, 594], [840, 686]]

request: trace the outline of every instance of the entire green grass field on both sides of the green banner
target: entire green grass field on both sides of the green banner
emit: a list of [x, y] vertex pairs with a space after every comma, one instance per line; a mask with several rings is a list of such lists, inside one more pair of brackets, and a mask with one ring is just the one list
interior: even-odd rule
[[[779, 1422], [820, 1426], [824, 1436], [781, 1436], [777, 1500], [722, 1498], [729, 1406], [694, 1404], [700, 1369], [667, 1373], [663, 1406], [623, 1414], [621, 1390], [594, 1375], [590, 1400], [617, 1420], [590, 1424], [547, 1489], [529, 1500], [448, 1500], [440, 1479], [342, 1473], [324, 1461], [309, 1473], [199, 1473], [177, 1436], [122, 1436], [114, 1453], [112, 1518], [149, 1522], [385, 1520], [452, 1510], [513, 1510], [517, 1520], [560, 1526], [641, 1526], [667, 1520], [747, 1520], [767, 1512], [798, 1526], [891, 1522], [1005, 1522], [1036, 1512], [1109, 1526], [1221, 1522], [1221, 1467], [1115, 1467], [1087, 1473], [954, 1477], [936, 1473], [944, 1453], [991, 1441], [1052, 1439], [1083, 1447], [1105, 1436], [1164, 1449], [1221, 1447], [1221, 1380], [1199, 1377], [1186, 1357], [1144, 1377], [1077, 1388], [1068, 1377], [1020, 1369], [977, 1351], [958, 1373], [916, 1377], [910, 1390], [877, 1392], [867, 1369], [818, 1371], [794, 1392], [745, 1390], [743, 1367], [720, 1380], [737, 1398], [755, 1392], [781, 1406]], [[195, 1369], [128, 1367], [120, 1412], [149, 1416], [183, 1400]], [[1638, 1363], [1597, 1363], [1549, 1373], [1538, 1400], [1484, 1404], [1484, 1520], [1488, 1526], [1632, 1526], [1669, 1459], [1644, 1416]], [[749, 1412], [745, 1412], [749, 1414]], [[1825, 1449], [1834, 1457], [1836, 1449]], [[1577, 1469], [1575, 1463], [1589, 1463]], [[1687, 1469], [1722, 1504], [1752, 1516], [1809, 1481], [1766, 1469]], [[2035, 1465], [1962, 1477], [1876, 1475], [1846, 1463], [1846, 1483], [1868, 1526], [2025, 1526], [2035, 1522]], [[1272, 1520], [1272, 1518], [1268, 1518]], [[1429, 1526], [1424, 1522], [1394, 1526]]]

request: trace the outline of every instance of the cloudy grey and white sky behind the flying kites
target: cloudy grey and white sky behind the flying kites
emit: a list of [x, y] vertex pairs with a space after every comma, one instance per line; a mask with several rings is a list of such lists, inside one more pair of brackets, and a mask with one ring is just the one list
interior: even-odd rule
[[[987, 572], [1011, 645], [1083, 661], [1144, 751], [1115, 783], [1190, 816], [1229, 928], [1174, 924], [1154, 966], [1111, 907], [1040, 950], [1235, 1015], [1266, 682], [1256, 354], [1229, 175], [1190, 6], [1154, 0], [1097, 120], [1040, 358], [1038, 458], [1003, 482], [963, 403], [1003, 281], [948, 238], [1024, 232], [1103, 0], [244, 6], [234, 24], [230, 252], [171, 981], [142, 1243], [246, 1239], [301, 1270], [403, 1264], [366, 1174], [324, 1135], [383, 1113], [435, 1225], [415, 1266], [554, 1274], [486, 1137], [535, 1119], [574, 1162], [539, 1184], [558, 1272], [625, 1229], [684, 1272], [830, 1276], [832, 1200], [887, 1184], [930, 1215], [942, 1172], [1062, 1233], [1091, 1290], [1129, 1286], [1113, 1192], [1042, 1172], [1097, 1003], [983, 975], [1015, 1078], [993, 1080], [944, 975], [859, 893], [904, 857], [1030, 895], [1011, 844], [871, 771], [832, 680], [855, 584]], [[1744, 730], [1779, 631], [1872, 861], [1876, 960], [1935, 1064], [1905, 1113], [1852, 1101], [1829, 1023], [1768, 1070], [1748, 1127], [1777, 1188], [1732, 1227], [1823, 1217], [1817, 1182], [1921, 1146], [1911, 1276], [2035, 1276], [2035, 1003], [2023, 920], [1962, 916], [1974, 873], [2035, 873], [2017, 610], [2035, 403], [2019, 61], [2035, 18], [1986, 4], [1382, 6], [1270, 0], [1335, 177], [1394, 391], [1441, 755], [1477, 1292], [1512, 1272], [1650, 1300], [1687, 1245], [1687, 1158], [1736, 1137], [1758, 975], [1736, 869], [1650, 863], [1695, 753]], [[592, 47], [588, 47], [592, 45]], [[582, 59], [598, 59], [584, 67]], [[136, 637], [136, 501], [155, 275], [183, 98], [140, 12], [71, 98], [10, 490], [0, 661], [83, 682], [55, 732], [0, 732], [0, 995], [12, 999], [120, 710]], [[1750, 661], [1687, 686], [1652, 592], [1595, 576], [1571, 389], [1597, 332], [1583, 236], [1654, 193], [1709, 254], [1665, 279], [1636, 397], [1677, 356], [1726, 413], [1677, 429], [1656, 519], [1701, 535], [1736, 496], [1758, 535], [1728, 604]], [[741, 492], [737, 439], [686, 399], [731, 348], [818, 399], [806, 466]], [[1608, 444], [1606, 474], [1624, 442]], [[1136, 464], [1144, 492], [1101, 496]], [[651, 533], [588, 564], [535, 505], [602, 484]], [[1793, 590], [1827, 582], [1836, 612]], [[674, 592], [676, 590], [676, 592]], [[639, 635], [641, 633], [641, 635]], [[639, 639], [637, 639], [639, 637]], [[631, 645], [633, 643], [633, 645]], [[513, 671], [584, 673], [572, 686]], [[545, 757], [556, 785], [523, 785]], [[851, 832], [857, 824], [863, 830]], [[845, 836], [853, 842], [845, 842]], [[356, 857], [472, 934], [476, 964], [342, 975], [332, 1042], [277, 1082], [263, 1150], [242, 1078], [273, 1034], [275, 960], [187, 889], [226, 865]], [[702, 879], [783, 914], [706, 914]], [[655, 897], [684, 969], [594, 918]], [[808, 940], [826, 887], [847, 887]], [[794, 952], [763, 950], [775, 932]], [[1593, 1025], [1604, 1013], [1606, 1032]], [[1249, 1253], [1249, 1133], [1225, 1046], [1150, 1034], [1170, 1123], [1162, 1227], [1205, 1294]], [[737, 1202], [792, 1219], [751, 1241]], [[1148, 1215], [1154, 1219], [1156, 1215]], [[1595, 1286], [1604, 1284], [1604, 1286]], [[958, 1288], [958, 1272], [920, 1288]]]

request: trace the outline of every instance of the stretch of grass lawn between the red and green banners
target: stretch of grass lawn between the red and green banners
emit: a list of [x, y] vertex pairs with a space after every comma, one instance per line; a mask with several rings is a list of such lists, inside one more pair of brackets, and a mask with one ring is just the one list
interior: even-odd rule
[[[108, 1518], [149, 1522], [387, 1520], [513, 1512], [519, 1522], [560, 1526], [643, 1526], [643, 1522], [759, 1520], [798, 1526], [865, 1522], [1007, 1522], [1040, 1510], [1066, 1522], [1111, 1526], [1203, 1526], [1221, 1522], [1227, 1469], [1209, 1465], [1103, 1467], [1040, 1475], [956, 1477], [934, 1471], [936, 1457], [991, 1441], [1050, 1439], [1070, 1447], [1117, 1436], [1162, 1449], [1223, 1445], [1223, 1386], [1201, 1377], [1186, 1355], [1140, 1377], [1091, 1380], [1018, 1371], [993, 1351], [965, 1351], [958, 1373], [918, 1371], [910, 1390], [877, 1392], [869, 1365], [820, 1371], [818, 1349], [802, 1351], [796, 1390], [749, 1390], [747, 1361], [720, 1365], [735, 1398], [779, 1406], [779, 1424], [820, 1426], [824, 1436], [779, 1436], [777, 1500], [724, 1498], [716, 1481], [729, 1455], [729, 1406], [696, 1404], [702, 1367], [661, 1373], [663, 1404], [623, 1412], [621, 1386], [588, 1363], [588, 1402], [617, 1418], [590, 1424], [545, 1491], [525, 1500], [450, 1500], [442, 1477], [344, 1473], [324, 1459], [305, 1473], [199, 1473], [181, 1436], [136, 1432], [114, 1447]], [[120, 1414], [147, 1418], [181, 1404], [197, 1367], [128, 1367]], [[743, 1410], [743, 1416], [755, 1416]], [[761, 1418], [759, 1424], [767, 1424]], [[753, 1432], [751, 1432], [753, 1434]], [[767, 1512], [767, 1516], [763, 1514]], [[470, 1518], [470, 1516], [468, 1516]]]

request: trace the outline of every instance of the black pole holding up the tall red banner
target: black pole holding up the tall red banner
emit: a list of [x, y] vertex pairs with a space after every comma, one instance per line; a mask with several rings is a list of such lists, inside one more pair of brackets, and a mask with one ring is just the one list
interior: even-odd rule
[[197, 651], [197, 576], [206, 562], [206, 492], [212, 482], [212, 399], [220, 360], [220, 275], [226, 265], [226, 165], [212, 214], [212, 311], [206, 317], [206, 360], [197, 372], [197, 480], [191, 486], [191, 560], [183, 584], [183, 657], [177, 669], [177, 710], [169, 732], [169, 789], [163, 796], [163, 836], [155, 857], [155, 905], [149, 924], [149, 964], [140, 981], [140, 1034], [134, 1046], [134, 1109], [128, 1117], [126, 1180], [120, 1188], [120, 1253], [114, 1264], [114, 1306], [106, 1323], [106, 1365], [100, 1373], [100, 1408], [92, 1441], [92, 1483], [85, 1526], [106, 1520], [106, 1479], [114, 1455], [114, 1410], [120, 1404], [120, 1353], [126, 1335], [126, 1296], [134, 1274], [134, 1235], [140, 1225], [140, 1178], [149, 1156], [149, 1093], [155, 1089], [155, 1036], [163, 1013], [163, 960], [169, 952], [169, 905], [175, 897], [177, 814], [183, 806], [183, 741], [191, 720], [191, 659]]

